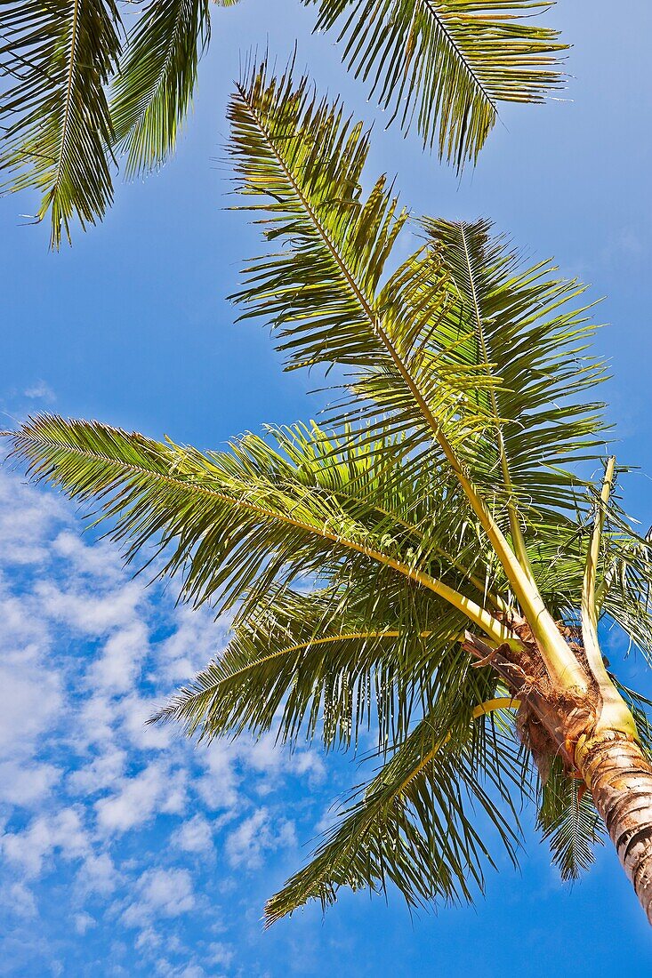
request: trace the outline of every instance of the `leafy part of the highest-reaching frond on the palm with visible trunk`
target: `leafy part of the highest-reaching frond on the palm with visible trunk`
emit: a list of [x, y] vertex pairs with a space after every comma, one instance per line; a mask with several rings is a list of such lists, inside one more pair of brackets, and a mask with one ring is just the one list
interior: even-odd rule
[[373, 424], [379, 405], [392, 411], [383, 434], [409, 433], [405, 453], [431, 445], [443, 428], [466, 440], [485, 415], [469, 410], [464, 430], [449, 422], [460, 398], [491, 378], [457, 356], [459, 331], [445, 328], [447, 279], [433, 249], [420, 248], [379, 288], [407, 212], [385, 177], [363, 198], [369, 140], [361, 126], [337, 103], [318, 102], [306, 78], [296, 87], [289, 73], [268, 80], [264, 65], [238, 85], [229, 116], [236, 180], [251, 200], [243, 208], [262, 215], [267, 240], [285, 245], [245, 269], [235, 296], [243, 318], [271, 320], [289, 368], [354, 368], [353, 399], [366, 394], [368, 405], [358, 420]]

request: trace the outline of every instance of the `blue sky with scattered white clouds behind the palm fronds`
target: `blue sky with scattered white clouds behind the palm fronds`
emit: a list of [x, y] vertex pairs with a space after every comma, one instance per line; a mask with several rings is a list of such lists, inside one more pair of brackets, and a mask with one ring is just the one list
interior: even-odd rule
[[[575, 44], [572, 101], [503, 111], [461, 181], [416, 137], [384, 131], [332, 38], [310, 36], [312, 17], [296, 0], [215, 10], [177, 156], [118, 186], [105, 223], [71, 249], [51, 254], [45, 228], [21, 226], [33, 200], [0, 200], [5, 418], [55, 410], [208, 448], [318, 410], [309, 378], [281, 374], [267, 333], [234, 326], [225, 300], [258, 246], [223, 209], [226, 98], [241, 51], [268, 47], [283, 63], [298, 36], [320, 88], [375, 120], [369, 172], [396, 172], [415, 212], [489, 216], [607, 296], [606, 393], [619, 458], [640, 466], [629, 511], [648, 525], [649, 4], [632, 0], [619, 21], [606, 0], [562, 0], [554, 21]], [[356, 769], [267, 740], [207, 750], [145, 729], [153, 704], [223, 646], [228, 622], [176, 608], [173, 592], [133, 581], [81, 531], [69, 504], [0, 469], [0, 974], [582, 978], [652, 965], [614, 854], [600, 852], [570, 890], [532, 828], [520, 873], [490, 874], [475, 909], [410, 918], [396, 897], [346, 895], [323, 920], [312, 908], [263, 933], [265, 897], [301, 864]], [[642, 659], [626, 675], [652, 693]]]

